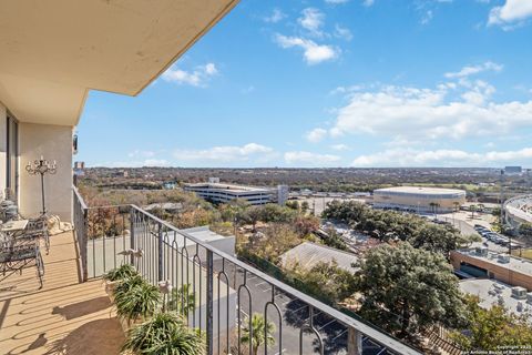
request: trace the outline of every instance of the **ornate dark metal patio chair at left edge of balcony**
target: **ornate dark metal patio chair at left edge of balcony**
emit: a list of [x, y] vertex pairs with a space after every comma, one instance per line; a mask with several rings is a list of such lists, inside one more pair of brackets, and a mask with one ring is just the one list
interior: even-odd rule
[[7, 272], [19, 271], [35, 266], [39, 288], [42, 288], [42, 276], [44, 276], [44, 263], [38, 243], [17, 245], [14, 240], [6, 239], [0, 244], [0, 272], [6, 276]]

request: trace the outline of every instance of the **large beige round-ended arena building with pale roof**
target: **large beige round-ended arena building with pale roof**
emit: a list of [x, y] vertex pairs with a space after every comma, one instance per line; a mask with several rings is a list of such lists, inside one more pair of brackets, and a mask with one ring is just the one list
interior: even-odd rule
[[452, 212], [466, 202], [466, 191], [398, 186], [374, 191], [374, 207], [411, 212]]

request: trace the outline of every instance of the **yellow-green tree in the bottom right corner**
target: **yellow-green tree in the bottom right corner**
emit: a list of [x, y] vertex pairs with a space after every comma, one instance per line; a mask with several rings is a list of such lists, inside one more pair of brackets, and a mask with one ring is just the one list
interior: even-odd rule
[[532, 344], [532, 327], [526, 316], [509, 314], [500, 305], [479, 306], [478, 296], [466, 296], [469, 324], [464, 332], [451, 333], [464, 351], [500, 351], [502, 346]]

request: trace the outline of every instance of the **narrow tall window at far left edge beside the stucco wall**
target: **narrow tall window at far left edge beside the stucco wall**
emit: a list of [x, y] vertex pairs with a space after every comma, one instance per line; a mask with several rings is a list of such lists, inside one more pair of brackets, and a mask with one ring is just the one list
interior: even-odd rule
[[6, 199], [17, 201], [19, 195], [19, 122], [8, 112], [7, 120], [7, 184]]

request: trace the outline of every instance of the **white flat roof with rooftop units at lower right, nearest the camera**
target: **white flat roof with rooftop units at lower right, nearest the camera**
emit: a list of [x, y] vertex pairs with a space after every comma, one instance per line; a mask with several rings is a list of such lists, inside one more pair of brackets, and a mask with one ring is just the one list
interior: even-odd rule
[[512, 286], [503, 282], [489, 278], [469, 278], [460, 281], [459, 286], [463, 293], [479, 296], [479, 305], [485, 310], [497, 305], [499, 295], [501, 295], [504, 300], [504, 307], [509, 312], [523, 314], [524, 312], [518, 312], [518, 302], [521, 302], [523, 308], [528, 308], [528, 313], [532, 315], [532, 305], [526, 303], [526, 298], [514, 298], [512, 296]]

